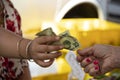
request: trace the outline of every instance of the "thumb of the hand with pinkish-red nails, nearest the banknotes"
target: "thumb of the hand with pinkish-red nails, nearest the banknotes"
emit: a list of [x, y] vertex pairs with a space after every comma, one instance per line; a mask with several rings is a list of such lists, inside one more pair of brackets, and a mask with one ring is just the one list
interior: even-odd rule
[[81, 56], [90, 56], [93, 54], [93, 47], [85, 48], [83, 50], [77, 50], [77, 53]]

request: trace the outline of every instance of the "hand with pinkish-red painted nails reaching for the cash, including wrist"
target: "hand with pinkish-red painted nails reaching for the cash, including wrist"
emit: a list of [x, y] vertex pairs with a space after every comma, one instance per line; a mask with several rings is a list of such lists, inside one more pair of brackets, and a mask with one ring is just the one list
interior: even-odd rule
[[77, 52], [77, 60], [81, 62], [85, 72], [91, 76], [99, 76], [120, 68], [120, 47], [118, 46], [97, 44]]

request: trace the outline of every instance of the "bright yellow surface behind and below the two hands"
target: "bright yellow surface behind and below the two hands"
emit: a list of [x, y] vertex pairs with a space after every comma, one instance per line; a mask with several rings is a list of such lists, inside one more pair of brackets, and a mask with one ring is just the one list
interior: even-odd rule
[[[92, 46], [94, 44], [110, 44], [120, 45], [120, 24], [109, 22], [99, 19], [63, 19], [62, 21], [46, 22], [46, 25], [54, 24], [52, 27], [56, 34], [65, 30], [69, 30], [71, 35], [76, 37], [80, 44], [81, 49]], [[33, 39], [35, 34], [46, 27], [41, 24], [40, 28], [24, 30], [24, 37]], [[33, 77], [33, 80], [67, 80], [68, 74], [71, 72], [69, 64], [64, 59], [66, 52], [58, 58], [57, 65], [58, 71], [56, 74], [46, 74], [38, 77]], [[85, 76], [85, 80], [90, 78], [89, 75]], [[74, 79], [77, 80], [77, 79]]]

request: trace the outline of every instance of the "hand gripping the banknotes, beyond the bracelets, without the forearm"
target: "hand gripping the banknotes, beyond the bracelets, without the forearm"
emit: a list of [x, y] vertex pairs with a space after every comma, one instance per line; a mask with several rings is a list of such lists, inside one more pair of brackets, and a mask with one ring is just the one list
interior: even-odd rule
[[[31, 58], [42, 67], [50, 66], [54, 59], [61, 55], [58, 50], [61, 50], [63, 46], [47, 44], [57, 40], [59, 40], [59, 37], [55, 36], [41, 36], [35, 38], [29, 47]], [[55, 53], [50, 53], [52, 51], [55, 51]]]

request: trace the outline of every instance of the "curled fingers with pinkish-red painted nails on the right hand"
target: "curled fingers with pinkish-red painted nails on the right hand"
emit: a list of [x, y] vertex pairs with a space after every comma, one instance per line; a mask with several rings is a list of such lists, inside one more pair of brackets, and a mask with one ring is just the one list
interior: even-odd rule
[[80, 65], [84, 68], [84, 71], [89, 73], [91, 76], [100, 75], [100, 64], [99, 61], [95, 59], [95, 57], [85, 57], [83, 60], [81, 60]]

